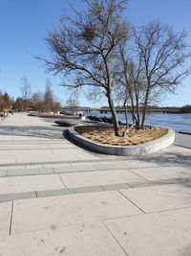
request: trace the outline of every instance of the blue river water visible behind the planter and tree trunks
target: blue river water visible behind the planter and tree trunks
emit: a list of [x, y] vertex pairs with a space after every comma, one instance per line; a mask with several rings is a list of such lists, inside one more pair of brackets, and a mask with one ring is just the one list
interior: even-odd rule
[[[92, 111], [89, 115], [97, 117], [111, 117], [111, 112], [100, 113], [99, 111]], [[124, 113], [118, 113], [118, 120], [125, 123]], [[131, 124], [131, 117], [128, 117], [129, 123]], [[189, 132], [191, 133], [191, 113], [187, 114], [163, 114], [162, 112], [151, 112], [147, 114], [145, 125], [159, 126], [173, 128], [176, 131]]]

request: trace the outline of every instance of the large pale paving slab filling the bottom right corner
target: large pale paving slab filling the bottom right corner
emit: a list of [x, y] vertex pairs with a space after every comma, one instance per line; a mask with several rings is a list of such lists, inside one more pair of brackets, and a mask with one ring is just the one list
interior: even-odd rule
[[191, 208], [104, 221], [127, 255], [191, 255]]

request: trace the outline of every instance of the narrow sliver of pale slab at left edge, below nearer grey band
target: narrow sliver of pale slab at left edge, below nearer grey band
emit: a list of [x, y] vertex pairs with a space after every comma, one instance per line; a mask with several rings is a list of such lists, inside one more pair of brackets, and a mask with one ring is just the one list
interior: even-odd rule
[[8, 236], [10, 234], [11, 205], [11, 201], [0, 203], [0, 236]]

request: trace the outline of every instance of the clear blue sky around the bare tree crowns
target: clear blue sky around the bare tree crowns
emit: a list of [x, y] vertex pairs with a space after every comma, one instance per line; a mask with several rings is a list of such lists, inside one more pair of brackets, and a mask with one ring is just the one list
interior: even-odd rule
[[[48, 56], [43, 38], [59, 24], [68, 3], [81, 9], [80, 0], [0, 0], [0, 90], [15, 98], [20, 96], [21, 78], [26, 76], [32, 92], [44, 91], [46, 79], [53, 82], [55, 96], [64, 103], [67, 95], [59, 78], [45, 73], [42, 65], [29, 53]], [[140, 25], [160, 20], [185, 29], [191, 45], [191, 0], [130, 0], [127, 17]], [[191, 60], [190, 60], [191, 64]], [[81, 105], [91, 105], [80, 97]], [[191, 104], [191, 77], [182, 82], [177, 95], [167, 95], [162, 105]], [[99, 105], [98, 103], [96, 105]]]

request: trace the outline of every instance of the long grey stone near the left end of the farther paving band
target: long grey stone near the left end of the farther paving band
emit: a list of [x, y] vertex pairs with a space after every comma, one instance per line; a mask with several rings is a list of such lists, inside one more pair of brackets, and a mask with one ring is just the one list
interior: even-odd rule
[[17, 176], [17, 175], [48, 175], [48, 174], [54, 174], [53, 168], [8, 170], [7, 176]]

